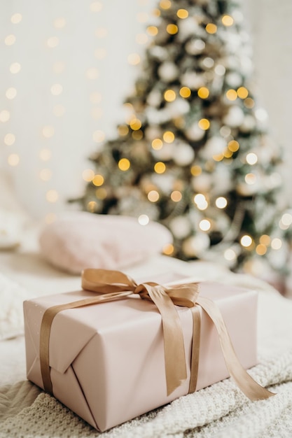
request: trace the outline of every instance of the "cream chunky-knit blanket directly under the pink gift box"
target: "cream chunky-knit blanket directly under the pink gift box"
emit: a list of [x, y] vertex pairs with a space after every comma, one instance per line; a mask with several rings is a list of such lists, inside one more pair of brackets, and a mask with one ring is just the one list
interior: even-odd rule
[[292, 348], [260, 358], [253, 379], [277, 393], [250, 402], [231, 379], [180, 397], [107, 432], [99, 433], [48, 394], [0, 425], [9, 438], [251, 438], [292, 436]]

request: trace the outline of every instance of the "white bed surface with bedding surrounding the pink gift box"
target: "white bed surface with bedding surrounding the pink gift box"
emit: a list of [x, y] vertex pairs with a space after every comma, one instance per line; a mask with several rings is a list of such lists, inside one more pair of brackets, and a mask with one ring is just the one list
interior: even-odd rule
[[[22, 287], [22, 300], [81, 288], [79, 276], [50, 267], [37, 245], [37, 228], [27, 230], [18, 250], [1, 251], [1, 274]], [[192, 276], [258, 290], [259, 365], [252, 376], [277, 395], [249, 402], [226, 379], [166, 407], [99, 434], [53, 397], [26, 379], [25, 340], [22, 334], [0, 341], [0, 437], [291, 437], [292, 436], [292, 300], [281, 297], [264, 281], [232, 274], [217, 264], [182, 262], [157, 255], [123, 269], [133, 278], [151, 279], [169, 273]], [[27, 295], [27, 296], [25, 296]], [[2, 299], [3, 296], [2, 296]], [[0, 294], [1, 306], [1, 294]]]

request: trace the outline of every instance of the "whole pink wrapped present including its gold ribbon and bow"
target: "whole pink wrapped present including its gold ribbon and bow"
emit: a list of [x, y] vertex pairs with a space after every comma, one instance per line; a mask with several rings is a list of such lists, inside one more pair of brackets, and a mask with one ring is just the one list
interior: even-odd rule
[[24, 303], [27, 378], [97, 430], [229, 375], [251, 400], [272, 395], [246, 373], [257, 363], [255, 291], [190, 278], [137, 285], [103, 269], [82, 281]]

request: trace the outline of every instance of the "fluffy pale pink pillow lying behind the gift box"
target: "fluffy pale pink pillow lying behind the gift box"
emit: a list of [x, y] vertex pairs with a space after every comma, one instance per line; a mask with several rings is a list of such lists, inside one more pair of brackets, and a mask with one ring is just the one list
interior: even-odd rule
[[158, 222], [140, 225], [137, 218], [64, 213], [39, 236], [43, 257], [72, 274], [85, 268], [123, 269], [162, 253], [172, 234]]

